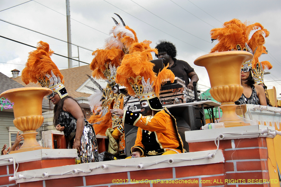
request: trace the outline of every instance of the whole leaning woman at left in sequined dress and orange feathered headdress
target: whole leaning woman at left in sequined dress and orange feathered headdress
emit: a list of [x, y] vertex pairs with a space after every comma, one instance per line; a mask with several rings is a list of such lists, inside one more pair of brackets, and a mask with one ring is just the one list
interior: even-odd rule
[[39, 41], [37, 50], [29, 53], [26, 67], [22, 70], [22, 81], [25, 84], [38, 81], [42, 87], [53, 91], [47, 98], [55, 105], [54, 127], [64, 132], [69, 149], [77, 149], [77, 163], [96, 162], [98, 151], [95, 131], [86, 121], [77, 101], [68, 95], [63, 76], [50, 57], [53, 53], [49, 44]]

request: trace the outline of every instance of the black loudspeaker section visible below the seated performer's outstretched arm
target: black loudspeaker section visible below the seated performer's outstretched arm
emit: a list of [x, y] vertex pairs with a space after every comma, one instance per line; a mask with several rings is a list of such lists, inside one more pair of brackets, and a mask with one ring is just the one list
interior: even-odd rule
[[125, 152], [126, 156], [131, 156], [131, 147], [135, 145], [136, 135], [138, 132], [138, 127], [133, 125], [124, 124], [125, 128]]

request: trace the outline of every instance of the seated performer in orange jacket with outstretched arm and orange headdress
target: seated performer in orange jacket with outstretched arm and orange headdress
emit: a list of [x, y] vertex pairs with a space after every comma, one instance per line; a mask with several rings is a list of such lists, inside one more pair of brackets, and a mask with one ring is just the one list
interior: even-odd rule
[[140, 100], [141, 113], [122, 109], [113, 109], [111, 113], [122, 116], [123, 123], [139, 127], [135, 145], [131, 147], [132, 157], [182, 153], [183, 143], [175, 118], [162, 108], [158, 98], [161, 84], [166, 79], [173, 82], [175, 75], [167, 70], [168, 65], [155, 75], [150, 60], [151, 52], [157, 53], [157, 50], [147, 44], [149, 41], [133, 44], [129, 50], [134, 52], [124, 56], [116, 75], [116, 82]]

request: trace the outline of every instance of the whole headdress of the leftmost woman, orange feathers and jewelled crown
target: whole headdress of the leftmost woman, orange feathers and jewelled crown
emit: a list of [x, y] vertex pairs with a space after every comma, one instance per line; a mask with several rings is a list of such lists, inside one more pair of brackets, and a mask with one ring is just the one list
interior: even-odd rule
[[58, 93], [60, 98], [64, 98], [68, 93], [63, 85], [63, 76], [50, 57], [53, 53], [49, 44], [39, 41], [37, 49], [29, 53], [25, 68], [22, 70], [22, 81], [25, 84], [38, 81], [42, 87], [50, 88], [53, 93], [47, 98], [54, 96], [54, 92]]

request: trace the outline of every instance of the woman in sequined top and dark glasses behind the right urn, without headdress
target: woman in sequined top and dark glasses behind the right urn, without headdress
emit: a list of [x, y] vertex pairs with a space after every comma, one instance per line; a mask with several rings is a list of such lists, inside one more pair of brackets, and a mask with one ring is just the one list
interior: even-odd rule
[[266, 98], [264, 88], [261, 85], [254, 84], [254, 79], [251, 73], [244, 68], [241, 70], [241, 85], [244, 90], [241, 97], [235, 102], [235, 104], [257, 104], [266, 106]]

